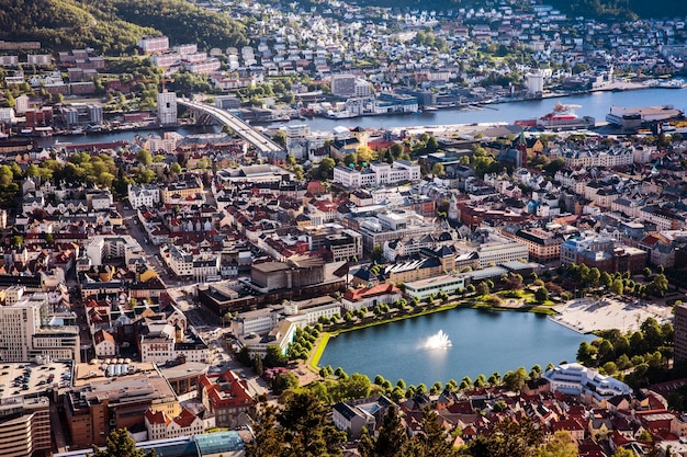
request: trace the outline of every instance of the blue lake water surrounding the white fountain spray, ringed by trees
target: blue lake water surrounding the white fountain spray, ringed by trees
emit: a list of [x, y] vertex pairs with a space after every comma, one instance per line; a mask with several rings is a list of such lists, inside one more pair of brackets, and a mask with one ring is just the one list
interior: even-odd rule
[[[451, 345], [428, 347], [428, 339], [439, 331]], [[549, 362], [573, 362], [579, 343], [593, 339], [534, 313], [452, 309], [341, 333], [329, 340], [319, 366], [429, 387], [449, 379], [460, 382], [464, 376], [503, 376], [520, 366], [529, 372], [536, 364], [543, 368]]]

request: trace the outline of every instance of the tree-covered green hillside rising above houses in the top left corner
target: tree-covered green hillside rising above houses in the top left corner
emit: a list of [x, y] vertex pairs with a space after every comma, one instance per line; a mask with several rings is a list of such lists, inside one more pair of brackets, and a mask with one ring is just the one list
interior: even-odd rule
[[198, 43], [203, 49], [248, 43], [241, 24], [183, 0], [0, 0], [4, 41], [120, 55], [132, 52], [138, 38], [160, 34], [173, 45]]

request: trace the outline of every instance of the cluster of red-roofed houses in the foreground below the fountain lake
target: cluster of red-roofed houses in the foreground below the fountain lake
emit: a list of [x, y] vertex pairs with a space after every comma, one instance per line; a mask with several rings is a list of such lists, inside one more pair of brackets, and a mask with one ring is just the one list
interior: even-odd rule
[[378, 431], [386, 411], [395, 408], [408, 435], [416, 436], [421, 433], [423, 409], [429, 407], [446, 430], [462, 431], [453, 438], [454, 446], [488, 435], [504, 422], [531, 421], [544, 438], [567, 432], [581, 456], [608, 456], [619, 448], [646, 455], [654, 445], [683, 455], [687, 422], [667, 409], [664, 393], [669, 388], [655, 385], [632, 392], [593, 368], [564, 364], [532, 378], [518, 393], [487, 387], [423, 393], [399, 403], [370, 397], [336, 403], [333, 421], [357, 437], [363, 429]]

